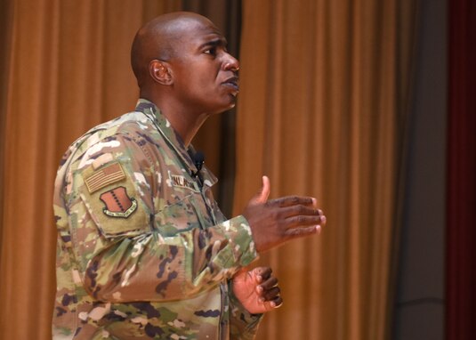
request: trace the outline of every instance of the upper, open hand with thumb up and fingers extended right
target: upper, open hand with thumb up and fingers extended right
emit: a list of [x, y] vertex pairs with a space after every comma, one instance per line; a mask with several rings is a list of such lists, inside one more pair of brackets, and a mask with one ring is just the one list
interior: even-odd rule
[[326, 216], [317, 207], [316, 198], [287, 196], [268, 200], [270, 179], [262, 177], [262, 190], [243, 212], [253, 232], [258, 253], [320, 231]]

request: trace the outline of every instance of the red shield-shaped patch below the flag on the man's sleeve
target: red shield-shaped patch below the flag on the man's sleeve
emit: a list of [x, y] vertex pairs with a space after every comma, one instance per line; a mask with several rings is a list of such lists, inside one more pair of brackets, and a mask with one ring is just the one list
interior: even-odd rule
[[127, 218], [137, 209], [137, 201], [135, 198], [129, 198], [125, 187], [106, 191], [101, 194], [100, 199], [106, 205], [102, 212], [110, 217]]

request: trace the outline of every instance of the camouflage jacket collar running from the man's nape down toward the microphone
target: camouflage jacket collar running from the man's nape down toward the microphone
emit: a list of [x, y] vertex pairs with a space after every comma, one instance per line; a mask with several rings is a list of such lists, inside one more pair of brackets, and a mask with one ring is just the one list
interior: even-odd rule
[[[195, 149], [191, 144], [188, 149], [185, 147], [182, 137], [173, 129], [173, 126], [167, 118], [160, 113], [157, 106], [153, 102], [141, 98], [137, 101], [135, 110], [149, 117], [149, 119], [154, 122], [154, 125], [156, 125], [158, 132], [164, 136], [165, 140], [169, 142], [171, 147], [180, 155], [184, 166], [188, 167], [192, 172], [197, 172], [197, 166], [195, 166], [193, 159], [190, 157], [190, 155], [195, 154]], [[204, 180], [208, 181], [208, 183], [206, 183], [208, 186], [212, 186], [217, 182], [214, 174], [210, 173], [208, 169], [206, 169], [206, 166], [202, 168], [202, 174]]]

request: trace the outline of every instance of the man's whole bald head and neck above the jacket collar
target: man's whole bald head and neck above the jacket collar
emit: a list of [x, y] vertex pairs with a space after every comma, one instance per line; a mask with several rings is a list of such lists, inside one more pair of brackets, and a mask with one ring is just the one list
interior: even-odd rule
[[134, 38], [139, 95], [156, 104], [185, 142], [206, 117], [235, 105], [239, 62], [226, 45], [210, 20], [191, 12], [161, 15]]

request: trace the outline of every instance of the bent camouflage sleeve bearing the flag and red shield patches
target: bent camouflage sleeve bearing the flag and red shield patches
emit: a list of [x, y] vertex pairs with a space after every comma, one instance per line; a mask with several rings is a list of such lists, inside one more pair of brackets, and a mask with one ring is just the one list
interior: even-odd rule
[[196, 195], [157, 212], [154, 194], [165, 179], [151, 152], [141, 139], [109, 138], [77, 158], [66, 183], [78, 275], [97, 300], [183, 299], [257, 257], [243, 216], [198, 228], [190, 221], [206, 211]]

